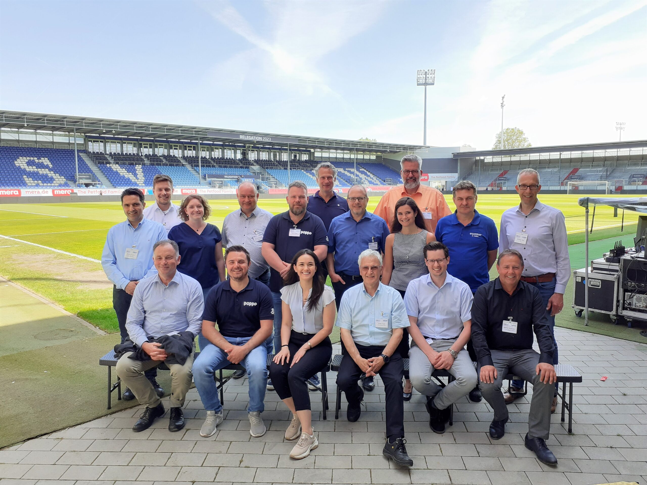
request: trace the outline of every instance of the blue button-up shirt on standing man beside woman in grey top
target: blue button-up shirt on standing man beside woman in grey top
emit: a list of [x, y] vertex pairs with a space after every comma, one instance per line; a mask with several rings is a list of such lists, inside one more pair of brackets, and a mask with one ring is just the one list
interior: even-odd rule
[[349, 275], [360, 274], [357, 259], [366, 249], [384, 253], [389, 228], [382, 217], [369, 211], [356, 222], [351, 212], [338, 215], [328, 230], [328, 252], [334, 253], [334, 271]]

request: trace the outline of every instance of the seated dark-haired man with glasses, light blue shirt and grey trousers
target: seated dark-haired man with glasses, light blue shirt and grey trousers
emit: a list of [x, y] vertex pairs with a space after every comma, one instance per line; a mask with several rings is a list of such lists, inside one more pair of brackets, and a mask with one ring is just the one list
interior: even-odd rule
[[[427, 396], [429, 426], [445, 431], [452, 405], [476, 386], [476, 371], [464, 349], [472, 331], [472, 290], [447, 272], [449, 250], [442, 242], [424, 246], [428, 275], [412, 280], [404, 294], [413, 344], [409, 375], [416, 391]], [[446, 369], [455, 380], [445, 387], [433, 382], [435, 369]]]

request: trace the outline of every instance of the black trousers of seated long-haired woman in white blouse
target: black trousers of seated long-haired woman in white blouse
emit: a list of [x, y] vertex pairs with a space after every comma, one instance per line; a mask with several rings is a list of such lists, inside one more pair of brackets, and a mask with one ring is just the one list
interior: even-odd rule
[[297, 411], [311, 409], [306, 381], [317, 372], [322, 371], [333, 355], [333, 344], [326, 337], [319, 345], [315, 345], [305, 352], [305, 355], [293, 367], [290, 367], [294, 354], [313, 336], [314, 334], [302, 334], [292, 330], [288, 342], [289, 360], [283, 365], [274, 363], [274, 361], [270, 363], [270, 379], [276, 394], [281, 399], [292, 398]]

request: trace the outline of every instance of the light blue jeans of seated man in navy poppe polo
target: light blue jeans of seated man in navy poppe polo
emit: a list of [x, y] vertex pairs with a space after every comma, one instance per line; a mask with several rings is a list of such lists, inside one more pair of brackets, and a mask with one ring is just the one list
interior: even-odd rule
[[[232, 345], [243, 345], [251, 337], [224, 337]], [[216, 347], [213, 343], [208, 343], [204, 349], [201, 349], [200, 355], [193, 362], [193, 382], [200, 394], [200, 400], [207, 411], [221, 413], [223, 405], [218, 398], [218, 388], [214, 381], [214, 372], [223, 369], [230, 364], [227, 360], [225, 350]], [[265, 399], [265, 387], [267, 385], [267, 349], [261, 344], [255, 347], [241, 361], [247, 370], [249, 384], [249, 405], [248, 413], [259, 411], [262, 413], [265, 409], [263, 400]]]

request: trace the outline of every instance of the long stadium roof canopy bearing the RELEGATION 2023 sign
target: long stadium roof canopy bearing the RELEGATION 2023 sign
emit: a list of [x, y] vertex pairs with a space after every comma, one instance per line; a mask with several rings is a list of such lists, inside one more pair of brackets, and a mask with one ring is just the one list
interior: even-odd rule
[[424, 146], [402, 145], [361, 140], [338, 140], [316, 136], [278, 135], [256, 131], [234, 131], [192, 125], [135, 122], [65, 116], [60, 114], [26, 113], [0, 110], [0, 128], [76, 133], [86, 136], [115, 136], [147, 138], [166, 141], [215, 142], [265, 147], [294, 147], [317, 150], [359, 151], [370, 153], [397, 153], [414, 151]]

